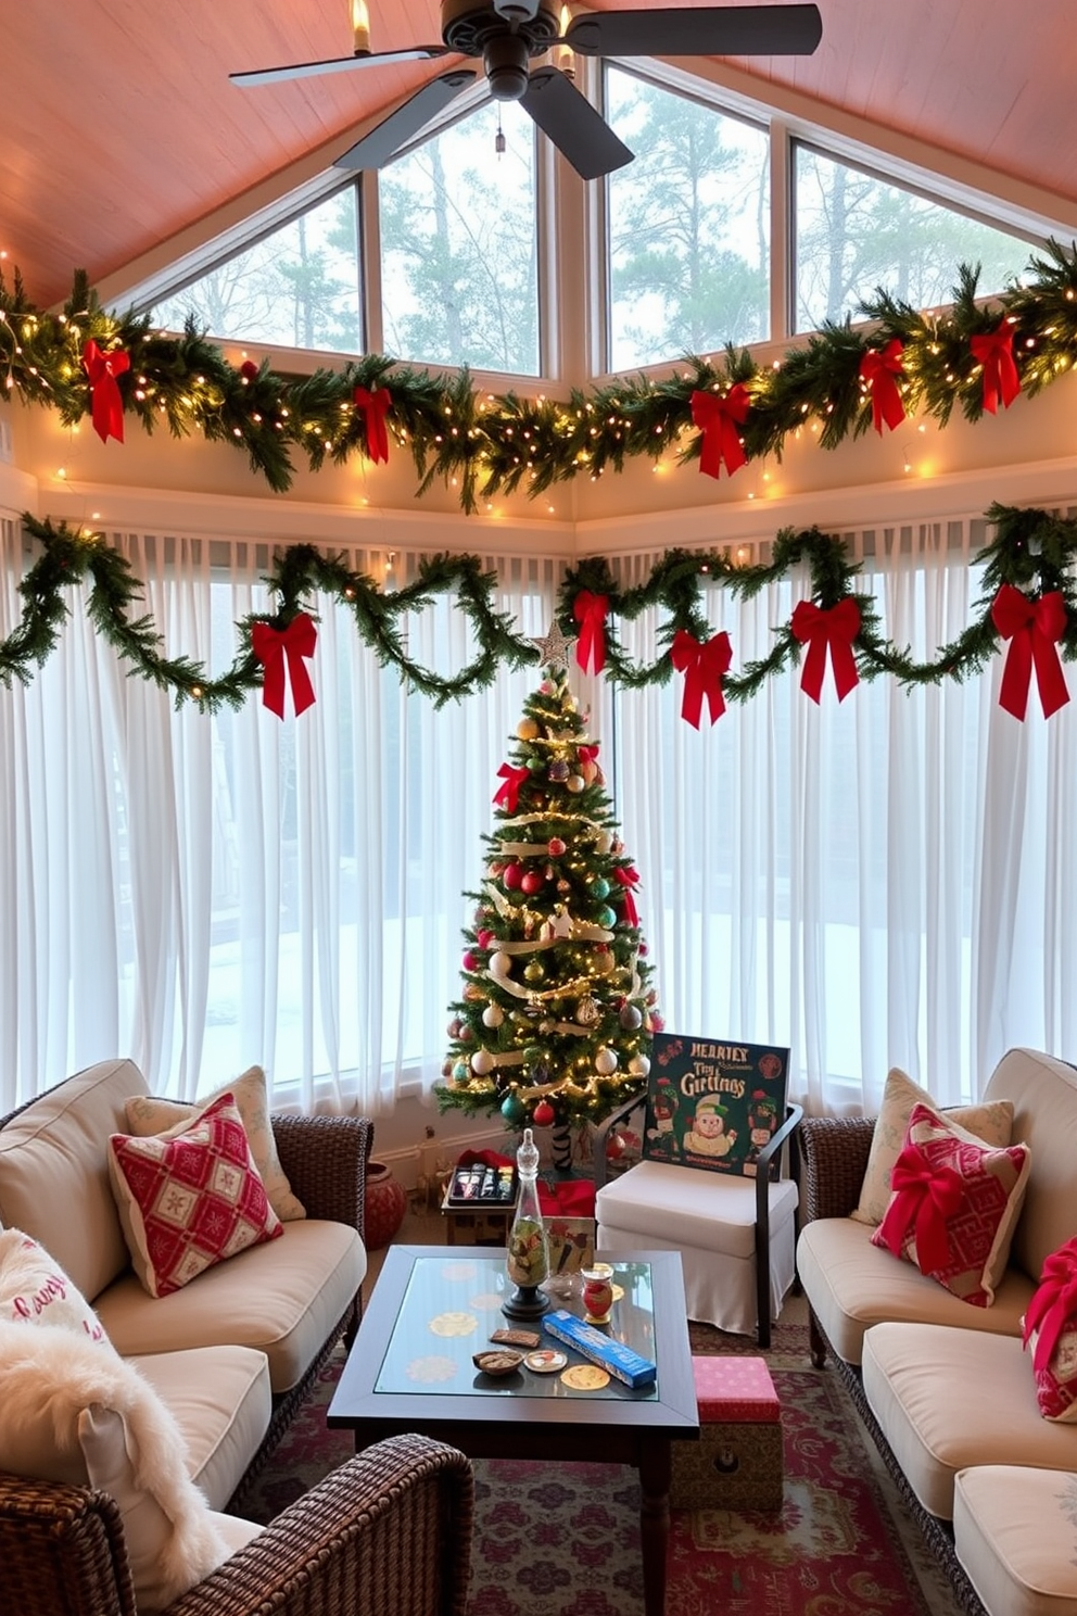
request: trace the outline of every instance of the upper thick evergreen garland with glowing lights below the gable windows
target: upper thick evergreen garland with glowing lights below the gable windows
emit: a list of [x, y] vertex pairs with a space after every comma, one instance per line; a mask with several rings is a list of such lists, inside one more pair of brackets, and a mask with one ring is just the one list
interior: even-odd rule
[[420, 494], [441, 478], [459, 490], [463, 511], [475, 512], [497, 493], [536, 496], [575, 477], [622, 472], [639, 456], [657, 461], [673, 449], [680, 464], [691, 464], [701, 452], [693, 393], [725, 393], [736, 383], [751, 401], [740, 431], [749, 461], [780, 457], [786, 438], [812, 425], [820, 446], [835, 449], [870, 428], [861, 364], [890, 341], [903, 346], [896, 386], [907, 415], [920, 412], [945, 427], [959, 409], [980, 420], [990, 406], [970, 344], [1003, 326], [1020, 389], [1035, 396], [1077, 362], [1077, 244], [1050, 242], [1029, 260], [1024, 284], [1014, 281], [985, 302], [977, 301], [977, 280], [979, 267], [961, 265], [953, 305], [940, 314], [878, 291], [861, 304], [867, 325], [828, 323], [773, 367], [759, 368], [748, 351], [730, 346], [715, 360], [686, 357], [685, 368], [664, 380], [622, 377], [555, 402], [480, 394], [467, 370], [431, 375], [384, 354], [302, 378], [252, 360], [234, 367], [194, 320], [170, 336], [153, 331], [147, 315], [105, 312], [82, 270], [60, 314], [36, 309], [16, 270], [10, 286], [0, 273], [0, 378], [8, 393], [57, 409], [74, 425], [92, 409], [86, 343], [105, 354], [119, 349], [131, 360], [116, 378], [124, 415], [145, 431], [166, 423], [173, 436], [200, 431], [207, 441], [231, 443], [278, 493], [291, 486], [294, 452], [313, 470], [326, 459], [342, 465], [355, 454], [373, 457], [355, 388], [384, 388], [386, 427], [410, 454]]

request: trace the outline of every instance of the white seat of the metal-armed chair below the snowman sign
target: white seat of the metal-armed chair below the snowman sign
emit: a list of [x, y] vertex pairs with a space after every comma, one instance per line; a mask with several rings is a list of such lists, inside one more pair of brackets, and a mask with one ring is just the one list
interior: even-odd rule
[[[770, 1185], [770, 1218], [783, 1222], [796, 1209], [796, 1185], [785, 1178]], [[720, 1176], [668, 1162], [639, 1162], [620, 1178], [604, 1185], [594, 1202], [604, 1228], [647, 1238], [668, 1246], [691, 1246], [728, 1257], [751, 1257], [756, 1251], [756, 1180]]]

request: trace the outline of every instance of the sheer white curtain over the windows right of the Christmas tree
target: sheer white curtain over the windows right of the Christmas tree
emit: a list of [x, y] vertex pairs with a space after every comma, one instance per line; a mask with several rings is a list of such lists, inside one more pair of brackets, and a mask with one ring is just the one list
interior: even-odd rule
[[[928, 659], [967, 625], [982, 519], [843, 537], [899, 646]], [[622, 583], [656, 559], [625, 558]], [[709, 591], [736, 671], [804, 593]], [[654, 656], [657, 627], [630, 625], [630, 650]], [[841, 705], [828, 671], [820, 706], [793, 669], [699, 732], [677, 674], [602, 693], [670, 1029], [788, 1042], [815, 1112], [874, 1112], [890, 1065], [959, 1100], [1014, 1044], [1077, 1054], [1077, 705], [1045, 722], [1033, 688], [1017, 722], [1001, 666]]]

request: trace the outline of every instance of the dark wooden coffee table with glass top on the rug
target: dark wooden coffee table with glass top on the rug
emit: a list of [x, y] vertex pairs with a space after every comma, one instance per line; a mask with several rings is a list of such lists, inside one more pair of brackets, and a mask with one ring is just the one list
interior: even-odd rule
[[[505, 1378], [475, 1369], [499, 1328], [531, 1328], [543, 1348], [573, 1348], [522, 1325], [501, 1304], [513, 1286], [504, 1251], [392, 1246], [363, 1312], [326, 1420], [355, 1432], [362, 1450], [383, 1437], [418, 1432], [473, 1459], [573, 1459], [631, 1464], [639, 1472], [646, 1616], [665, 1610], [670, 1441], [699, 1437], [685, 1319], [681, 1262], [673, 1251], [609, 1256], [614, 1302], [604, 1333], [657, 1366], [657, 1378], [630, 1390], [615, 1377], [576, 1390], [562, 1374], [526, 1367]], [[551, 1311], [583, 1315], [583, 1304], [551, 1298]], [[570, 1377], [572, 1378], [572, 1377]], [[578, 1378], [578, 1377], [576, 1377]], [[589, 1377], [583, 1377], [589, 1378]]]

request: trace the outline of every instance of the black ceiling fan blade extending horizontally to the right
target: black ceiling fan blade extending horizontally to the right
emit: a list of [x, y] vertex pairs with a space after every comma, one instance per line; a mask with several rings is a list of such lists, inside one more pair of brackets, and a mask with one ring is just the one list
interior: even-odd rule
[[811, 57], [820, 39], [817, 5], [593, 11], [565, 32], [581, 57]]

